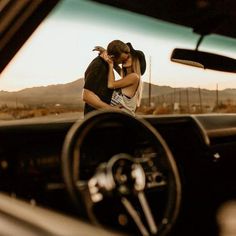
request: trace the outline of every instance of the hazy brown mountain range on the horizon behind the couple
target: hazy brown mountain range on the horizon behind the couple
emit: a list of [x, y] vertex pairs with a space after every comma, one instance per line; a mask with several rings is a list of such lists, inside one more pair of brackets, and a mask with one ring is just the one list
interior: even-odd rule
[[[82, 107], [81, 92], [83, 79], [67, 84], [49, 85], [23, 89], [17, 92], [0, 91], [0, 106], [36, 106], [36, 105], [70, 105]], [[169, 86], [158, 86], [144, 83], [143, 102], [153, 103], [183, 103], [213, 106], [217, 99], [218, 102], [233, 103], [236, 99], [236, 89], [225, 89], [218, 91], [199, 88], [172, 88]]]

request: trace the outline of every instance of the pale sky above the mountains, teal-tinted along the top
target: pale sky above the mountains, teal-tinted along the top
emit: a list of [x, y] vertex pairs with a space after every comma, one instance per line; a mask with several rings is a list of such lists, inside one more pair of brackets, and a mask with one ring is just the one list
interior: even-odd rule
[[[172, 87], [236, 88], [236, 75], [170, 62], [173, 48], [194, 49], [199, 36], [185, 27], [84, 1], [70, 0], [50, 14], [0, 76], [0, 90], [63, 84], [82, 78], [95, 45], [120, 39], [146, 55], [144, 81]], [[225, 44], [227, 46], [225, 46]], [[217, 48], [217, 50], [216, 50]], [[200, 50], [236, 58], [236, 40], [208, 36]]]

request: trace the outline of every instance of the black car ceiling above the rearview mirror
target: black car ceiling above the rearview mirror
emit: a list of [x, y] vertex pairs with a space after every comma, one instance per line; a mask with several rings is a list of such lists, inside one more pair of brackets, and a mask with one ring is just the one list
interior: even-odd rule
[[187, 26], [200, 35], [236, 38], [235, 0], [93, 0], [170, 23]]

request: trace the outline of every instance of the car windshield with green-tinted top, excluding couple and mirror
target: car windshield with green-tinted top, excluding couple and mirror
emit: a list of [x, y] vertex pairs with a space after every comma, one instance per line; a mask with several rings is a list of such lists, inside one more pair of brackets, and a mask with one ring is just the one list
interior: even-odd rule
[[[170, 61], [174, 48], [195, 49], [199, 35], [191, 28], [70, 0], [56, 6], [1, 73], [0, 120], [72, 113], [83, 117], [84, 72], [98, 54], [92, 50], [114, 39], [131, 42], [146, 56], [137, 114], [236, 112], [235, 73]], [[199, 49], [236, 58], [233, 38], [212, 34]]]

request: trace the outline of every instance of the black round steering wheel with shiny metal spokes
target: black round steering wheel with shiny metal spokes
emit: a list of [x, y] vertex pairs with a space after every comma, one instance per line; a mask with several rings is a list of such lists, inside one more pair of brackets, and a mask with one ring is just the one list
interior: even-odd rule
[[96, 224], [139, 235], [166, 235], [179, 212], [174, 158], [146, 120], [96, 111], [69, 130], [63, 177], [79, 213]]

